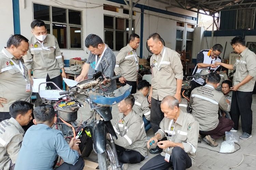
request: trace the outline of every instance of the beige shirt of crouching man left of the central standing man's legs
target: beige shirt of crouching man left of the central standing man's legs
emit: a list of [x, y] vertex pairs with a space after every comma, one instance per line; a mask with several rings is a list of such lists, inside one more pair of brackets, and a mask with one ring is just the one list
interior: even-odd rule
[[135, 103], [132, 107], [133, 111], [139, 114], [140, 117], [144, 115], [150, 121], [150, 107], [147, 98], [140, 91], [132, 95], [135, 98]]

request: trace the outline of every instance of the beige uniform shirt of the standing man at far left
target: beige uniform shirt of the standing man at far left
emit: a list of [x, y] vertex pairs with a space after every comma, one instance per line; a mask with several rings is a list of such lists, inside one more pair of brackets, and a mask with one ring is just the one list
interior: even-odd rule
[[[20, 61], [24, 63], [23, 59]], [[9, 107], [17, 100], [30, 102], [32, 86], [30, 86], [30, 92], [26, 92], [26, 84], [30, 83], [28, 70], [23, 64], [24, 77], [17, 67], [19, 67], [19, 60], [3, 48], [0, 51], [0, 97], [7, 99], [8, 103], [2, 103], [3, 107], [0, 107], [0, 112], [9, 112]]]

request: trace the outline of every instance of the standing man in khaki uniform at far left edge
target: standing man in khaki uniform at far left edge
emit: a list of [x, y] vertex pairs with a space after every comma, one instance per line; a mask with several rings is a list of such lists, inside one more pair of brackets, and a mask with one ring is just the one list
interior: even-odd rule
[[0, 52], [0, 121], [11, 118], [9, 107], [13, 102], [31, 101], [32, 86], [22, 59], [28, 47], [28, 39], [16, 34]]

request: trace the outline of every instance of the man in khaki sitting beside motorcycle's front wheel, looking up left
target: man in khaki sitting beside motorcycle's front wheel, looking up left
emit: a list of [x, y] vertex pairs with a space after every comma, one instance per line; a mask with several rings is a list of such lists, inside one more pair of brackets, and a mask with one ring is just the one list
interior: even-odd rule
[[118, 104], [120, 114], [113, 126], [114, 138], [119, 161], [124, 164], [136, 164], [147, 155], [146, 133], [141, 117], [132, 110], [135, 99], [130, 94]]

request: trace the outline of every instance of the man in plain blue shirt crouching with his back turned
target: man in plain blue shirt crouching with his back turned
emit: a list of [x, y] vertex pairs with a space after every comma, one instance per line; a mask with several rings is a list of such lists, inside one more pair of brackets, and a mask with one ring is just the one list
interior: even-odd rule
[[56, 168], [57, 170], [82, 170], [84, 160], [79, 156], [79, 139], [72, 138], [68, 144], [61, 131], [51, 128], [57, 120], [53, 106], [40, 105], [35, 107], [33, 113], [35, 125], [24, 135], [15, 170], [52, 170], [58, 155], [64, 163]]

